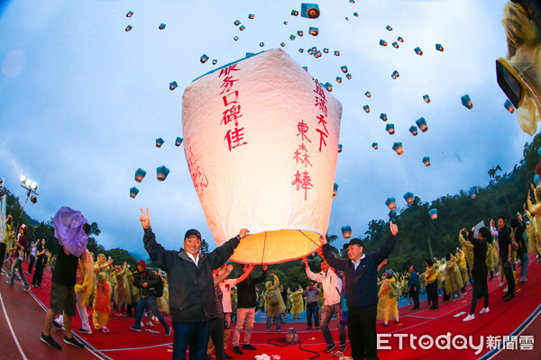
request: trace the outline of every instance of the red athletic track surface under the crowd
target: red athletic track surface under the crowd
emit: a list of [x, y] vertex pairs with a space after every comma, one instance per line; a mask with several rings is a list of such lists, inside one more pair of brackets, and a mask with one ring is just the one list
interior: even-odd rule
[[[400, 308], [400, 322], [395, 324], [390, 321], [389, 327], [383, 327], [381, 321], [378, 322], [378, 333], [389, 334], [389, 343], [385, 344], [391, 349], [381, 349], [378, 356], [381, 360], [385, 359], [478, 359], [487, 354], [490, 349], [485, 346], [481, 353], [474, 354], [471, 347], [468, 349], [438, 349], [436, 346], [422, 349], [418, 347], [418, 339], [415, 341], [414, 349], [410, 346], [410, 335], [417, 338], [429, 335], [436, 339], [440, 335], [450, 335], [452, 338], [463, 335], [468, 338], [472, 336], [473, 344], [478, 345], [481, 341], [481, 336], [509, 336], [527, 318], [536, 311], [541, 304], [541, 265], [536, 265], [536, 258], [530, 257], [530, 265], [528, 266], [528, 282], [519, 284], [516, 288], [516, 296], [510, 302], [504, 302], [501, 299], [503, 287], [499, 287], [497, 279], [489, 283], [490, 293], [490, 309], [487, 314], [479, 314], [482, 309], [482, 300], [477, 304], [475, 320], [463, 322], [465, 314], [454, 318], [454, 315], [461, 311], [468, 312], [472, 301], [471, 285], [468, 285], [468, 293], [461, 300], [456, 302], [442, 302], [440, 296], [440, 308], [436, 311], [429, 311], [426, 302], [421, 302], [421, 309], [410, 311], [412, 306]], [[24, 264], [24, 269], [27, 269], [27, 264]], [[32, 284], [32, 275], [26, 275], [27, 280]], [[3, 279], [3, 280], [2, 280]], [[2, 296], [5, 311], [11, 321], [15, 336], [23, 349], [23, 353], [28, 359], [61, 359], [61, 358], [96, 358], [91, 352], [81, 350], [75, 347], [69, 347], [61, 342], [63, 331], [51, 330], [51, 334], [62, 345], [62, 351], [54, 350], [47, 347], [40, 341], [41, 327], [44, 320], [44, 312], [41, 309], [39, 302], [32, 298], [30, 293], [23, 292], [23, 285], [15, 282], [14, 287], [5, 284], [6, 277], [0, 277], [0, 295]], [[36, 298], [46, 307], [49, 306], [50, 292], [50, 271], [45, 271], [41, 289], [31, 289]], [[166, 317], [170, 323], [170, 318]], [[531, 324], [524, 330], [523, 333], [517, 335], [530, 335], [535, 338], [533, 350], [503, 350], [495, 355], [497, 360], [517, 359], [541, 359], [541, 316], [533, 320]], [[92, 321], [90, 320], [92, 325]], [[155, 323], [154, 327], [144, 327], [142, 332], [134, 332], [129, 329], [133, 325], [133, 318], [118, 317], [112, 315], [108, 328], [111, 329], [109, 334], [104, 334], [94, 330], [92, 335], [79, 334], [80, 338], [96, 348], [103, 356], [107, 356], [118, 360], [128, 359], [170, 359], [172, 351], [172, 334], [170, 337], [165, 337], [163, 328], [160, 323]], [[304, 321], [293, 322], [291, 316], [287, 323], [282, 324], [282, 332], [277, 333], [272, 325], [271, 332], [265, 331], [265, 324], [256, 323], [252, 333], [252, 345], [258, 347], [256, 351], [244, 350], [243, 355], [237, 355], [232, 352], [231, 340], [233, 337], [234, 323], [232, 323], [232, 334], [227, 347], [227, 353], [234, 356], [237, 360], [253, 359], [256, 355], [267, 354], [280, 355], [282, 360], [289, 359], [307, 359], [316, 354], [308, 353], [299, 348], [298, 345], [289, 345], [286, 347], [273, 346], [268, 343], [269, 340], [276, 338], [285, 338], [285, 334], [290, 327], [297, 329], [301, 347], [307, 350], [316, 351], [321, 358], [336, 358], [330, 354], [324, 354], [322, 350], [326, 347], [325, 340], [320, 330], [306, 330]], [[73, 319], [73, 329], [80, 328], [80, 320], [78, 317]], [[150, 329], [157, 331], [156, 333], [145, 331]], [[335, 341], [338, 341], [338, 333], [335, 328], [335, 320], [331, 322], [331, 329]], [[0, 348], [3, 352], [0, 355], [2, 359], [21, 359], [19, 350], [14, 344], [14, 338], [8, 328], [3, 309], [0, 309]], [[402, 347], [399, 347], [399, 334], [408, 334], [408, 338], [404, 338]], [[243, 333], [241, 334], [241, 342], [243, 341]], [[272, 341], [271, 341], [272, 342]], [[280, 343], [277, 343], [280, 344]], [[442, 344], [443, 345], [443, 344]], [[457, 343], [457, 345], [461, 345]], [[349, 341], [348, 349], [344, 355], [351, 355]]]

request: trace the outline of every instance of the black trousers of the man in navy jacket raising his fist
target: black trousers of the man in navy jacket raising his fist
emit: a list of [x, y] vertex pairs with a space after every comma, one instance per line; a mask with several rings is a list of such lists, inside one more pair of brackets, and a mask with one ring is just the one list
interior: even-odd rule
[[376, 315], [378, 306], [350, 306], [347, 313], [347, 335], [352, 347], [353, 360], [378, 359], [378, 333]]

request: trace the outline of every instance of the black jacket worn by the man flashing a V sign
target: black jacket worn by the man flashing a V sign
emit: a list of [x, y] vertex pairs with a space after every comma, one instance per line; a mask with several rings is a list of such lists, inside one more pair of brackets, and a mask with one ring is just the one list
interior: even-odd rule
[[170, 312], [173, 322], [198, 322], [215, 319], [215, 285], [212, 271], [231, 257], [238, 238], [231, 238], [208, 254], [199, 253], [198, 265], [180, 251], [166, 250], [156, 242], [151, 229], [144, 230], [144, 248], [154, 264], [167, 273]]

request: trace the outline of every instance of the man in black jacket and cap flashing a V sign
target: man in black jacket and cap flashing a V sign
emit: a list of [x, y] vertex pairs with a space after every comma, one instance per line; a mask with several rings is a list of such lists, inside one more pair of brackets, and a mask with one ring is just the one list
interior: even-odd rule
[[248, 229], [226, 241], [208, 254], [201, 254], [201, 234], [189, 229], [184, 237], [184, 248], [165, 250], [156, 242], [151, 230], [149, 210], [141, 209], [142, 242], [154, 264], [167, 273], [170, 290], [170, 313], [175, 337], [173, 359], [201, 359], [206, 350], [208, 320], [215, 318], [215, 285], [212, 271], [222, 266], [234, 253]]

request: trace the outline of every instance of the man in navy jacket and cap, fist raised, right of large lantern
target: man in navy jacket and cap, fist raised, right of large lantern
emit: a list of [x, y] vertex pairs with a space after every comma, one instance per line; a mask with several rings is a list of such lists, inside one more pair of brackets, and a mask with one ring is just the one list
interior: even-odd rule
[[323, 256], [329, 266], [344, 271], [345, 301], [348, 308], [348, 338], [352, 347], [353, 360], [375, 360], [378, 358], [378, 334], [376, 315], [378, 313], [378, 266], [389, 257], [396, 243], [399, 227], [390, 221], [390, 237], [376, 252], [364, 254], [364, 244], [359, 238], [352, 238], [345, 244], [349, 260], [336, 258], [326, 238], [319, 240]]

